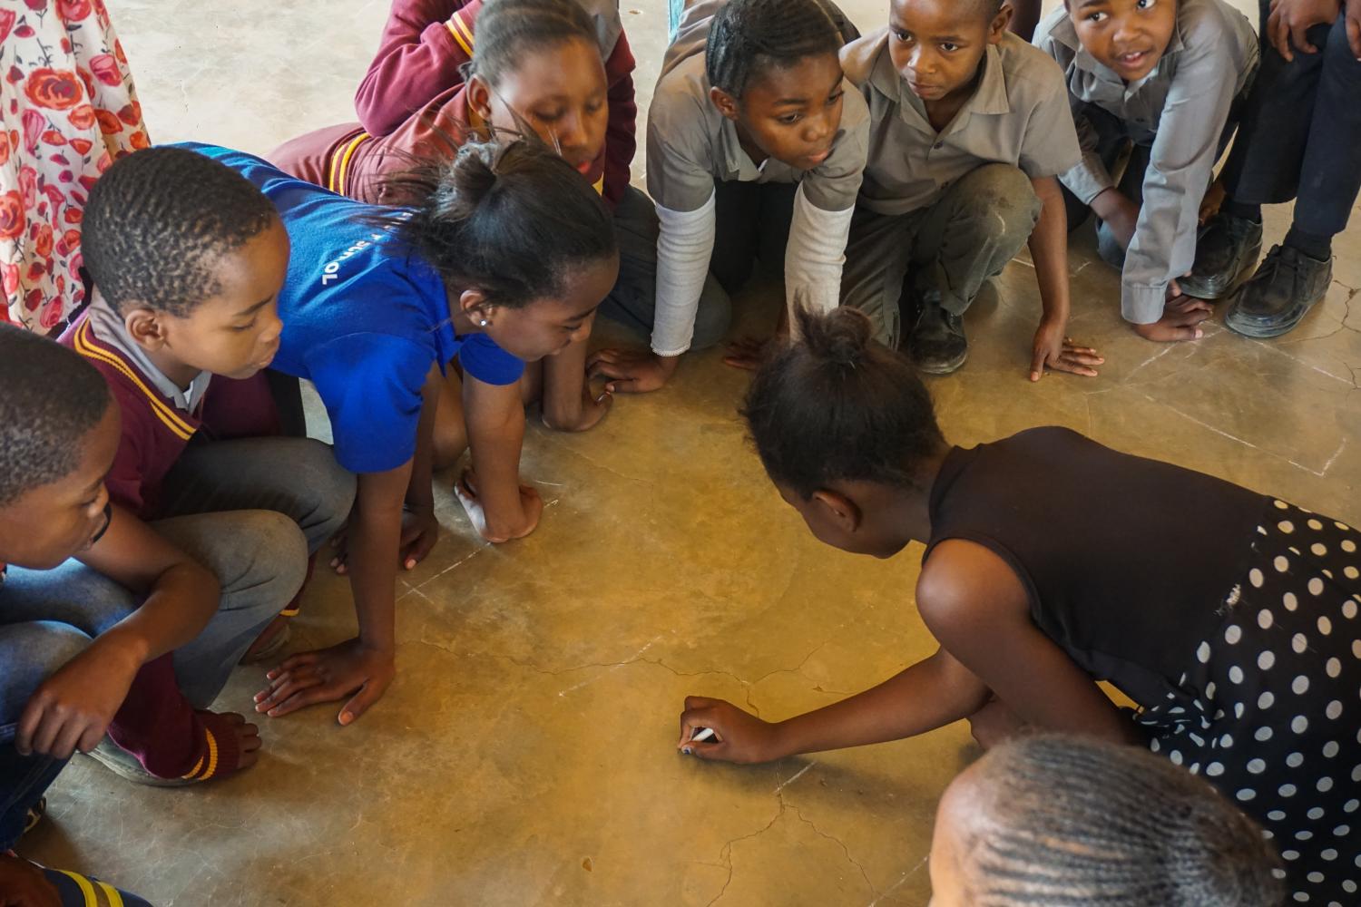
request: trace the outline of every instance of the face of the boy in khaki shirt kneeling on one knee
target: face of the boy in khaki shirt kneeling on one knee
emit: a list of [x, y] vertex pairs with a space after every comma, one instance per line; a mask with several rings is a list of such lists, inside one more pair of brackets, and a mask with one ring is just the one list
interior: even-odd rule
[[988, 20], [983, 0], [893, 0], [889, 56], [912, 94], [934, 102], [973, 90], [989, 44], [1002, 41], [1010, 8]]

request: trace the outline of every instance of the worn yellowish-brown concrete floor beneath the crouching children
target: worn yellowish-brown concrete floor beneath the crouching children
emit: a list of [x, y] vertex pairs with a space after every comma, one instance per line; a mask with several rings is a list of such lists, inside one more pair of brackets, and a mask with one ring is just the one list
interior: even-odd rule
[[[152, 137], [255, 152], [352, 118], [388, 7], [110, 5]], [[864, 27], [882, 15], [844, 5]], [[666, 3], [625, 10], [645, 102]], [[1081, 235], [1071, 333], [1108, 359], [1092, 381], [1029, 385], [1038, 299], [1013, 264], [969, 314], [968, 366], [932, 382], [949, 437], [1064, 424], [1361, 521], [1353, 224], [1327, 303], [1277, 343], [1219, 324], [1195, 344], [1141, 340]], [[1270, 211], [1268, 242], [1286, 226]], [[774, 294], [751, 296], [749, 322], [769, 324]], [[267, 719], [260, 764], [197, 789], [135, 787], [78, 759], [26, 853], [167, 906], [925, 904], [936, 798], [976, 756], [964, 726], [750, 768], [674, 751], [686, 694], [780, 718], [934, 650], [912, 600], [919, 552], [881, 563], [808, 536], [743, 441], [746, 381], [690, 356], [587, 435], [535, 424], [523, 475], [543, 524], [493, 548], [442, 495], [445, 534], [400, 589], [397, 681], [367, 717]], [[352, 627], [347, 583], [318, 578], [297, 645]], [[248, 710], [260, 673], [240, 670], [218, 707]]]

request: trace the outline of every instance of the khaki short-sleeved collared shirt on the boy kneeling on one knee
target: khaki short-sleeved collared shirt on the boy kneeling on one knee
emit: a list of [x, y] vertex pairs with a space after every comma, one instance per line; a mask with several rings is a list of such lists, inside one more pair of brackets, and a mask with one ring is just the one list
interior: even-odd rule
[[934, 204], [984, 163], [1055, 177], [1082, 156], [1063, 73], [1013, 34], [989, 45], [977, 91], [939, 133], [889, 56], [879, 29], [841, 49], [841, 67], [870, 105], [870, 156], [860, 204], [902, 215]]

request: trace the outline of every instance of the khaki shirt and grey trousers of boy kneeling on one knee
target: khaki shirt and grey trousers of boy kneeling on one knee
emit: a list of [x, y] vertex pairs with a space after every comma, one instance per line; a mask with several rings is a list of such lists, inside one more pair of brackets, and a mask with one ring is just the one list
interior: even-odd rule
[[841, 50], [870, 105], [870, 155], [851, 223], [842, 302], [868, 314], [878, 340], [901, 339], [912, 271], [961, 314], [1029, 239], [1041, 204], [1030, 184], [1081, 158], [1063, 73], [1013, 34], [987, 49], [973, 97], [939, 133], [898, 75], [881, 29]]

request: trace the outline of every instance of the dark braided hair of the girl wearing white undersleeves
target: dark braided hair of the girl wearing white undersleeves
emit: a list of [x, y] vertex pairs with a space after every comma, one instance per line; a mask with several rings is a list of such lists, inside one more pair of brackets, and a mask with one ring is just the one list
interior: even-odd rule
[[710, 86], [740, 98], [766, 69], [836, 56], [840, 48], [841, 34], [818, 0], [728, 0], [709, 23], [704, 68]]

